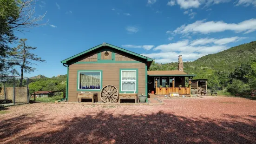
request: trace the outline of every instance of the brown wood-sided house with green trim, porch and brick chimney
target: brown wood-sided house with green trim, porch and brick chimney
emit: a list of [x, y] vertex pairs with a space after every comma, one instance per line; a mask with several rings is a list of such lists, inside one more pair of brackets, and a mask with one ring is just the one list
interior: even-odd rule
[[[153, 59], [123, 48], [103, 43], [61, 63], [67, 68], [67, 101], [77, 101], [77, 93], [100, 92], [105, 85], [113, 85], [118, 93], [169, 94], [185, 91], [185, 77], [193, 77], [183, 72], [182, 57], [179, 56], [177, 71], [148, 71]], [[156, 81], [155, 81], [156, 80]], [[155, 85], [157, 84], [157, 85]], [[161, 89], [162, 86], [171, 85]], [[178, 87], [182, 85], [182, 90]], [[111, 87], [112, 88], [112, 87]]]

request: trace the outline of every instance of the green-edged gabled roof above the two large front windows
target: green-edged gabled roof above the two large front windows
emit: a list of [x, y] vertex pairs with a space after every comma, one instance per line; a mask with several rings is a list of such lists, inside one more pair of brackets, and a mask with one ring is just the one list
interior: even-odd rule
[[138, 53], [131, 52], [131, 51], [125, 50], [125, 49], [123, 49], [123, 48], [120, 48], [120, 47], [118, 47], [118, 46], [113, 46], [113, 45], [108, 44], [108, 43], [103, 43], [103, 44], [101, 44], [101, 45], [92, 47], [91, 49], [88, 49], [88, 50], [86, 50], [86, 51], [84, 51], [84, 52], [80, 52], [79, 54], [74, 55], [74, 56], [72, 56], [72, 57], [70, 57], [70, 58], [68, 58], [68, 59], [62, 60], [61, 63], [66, 64], [67, 61], [72, 60], [72, 59], [75, 59], [75, 58], [77, 58], [77, 57], [79, 57], [79, 56], [81, 56], [81, 55], [83, 55], [83, 54], [85, 54], [85, 53], [87, 53], [87, 52], [91, 52], [91, 51], [96, 50], [96, 49], [98, 49], [98, 48], [100, 48], [100, 47], [102, 47], [102, 46], [109, 46], [109, 47], [112, 47], [113, 49], [116, 49], [116, 50], [119, 50], [119, 51], [122, 51], [122, 52], [126, 52], [126, 53], [129, 53], [129, 54], [134, 55], [134, 56], [136, 56], [136, 57], [145, 59], [146, 61], [153, 61], [153, 59], [148, 58], [148, 57], [145, 57], [145, 56], [140, 55], [140, 54], [138, 54]]

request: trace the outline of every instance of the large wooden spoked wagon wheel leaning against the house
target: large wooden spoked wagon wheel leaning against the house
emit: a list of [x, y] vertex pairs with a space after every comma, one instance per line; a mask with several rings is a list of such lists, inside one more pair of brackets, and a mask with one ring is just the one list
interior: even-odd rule
[[105, 103], [113, 103], [118, 98], [118, 89], [113, 85], [106, 85], [100, 91], [100, 98]]

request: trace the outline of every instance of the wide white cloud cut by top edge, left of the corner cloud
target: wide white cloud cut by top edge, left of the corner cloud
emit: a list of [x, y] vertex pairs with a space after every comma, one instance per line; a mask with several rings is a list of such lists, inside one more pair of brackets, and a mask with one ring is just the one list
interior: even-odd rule
[[174, 6], [176, 3], [182, 9], [198, 8], [200, 6], [209, 7], [211, 5], [230, 2], [230, 0], [171, 0], [167, 3], [168, 6]]

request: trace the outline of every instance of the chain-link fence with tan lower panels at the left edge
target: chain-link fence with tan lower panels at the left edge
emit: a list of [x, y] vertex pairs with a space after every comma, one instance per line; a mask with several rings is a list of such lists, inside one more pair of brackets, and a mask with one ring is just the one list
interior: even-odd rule
[[29, 103], [28, 78], [0, 76], [0, 105]]

